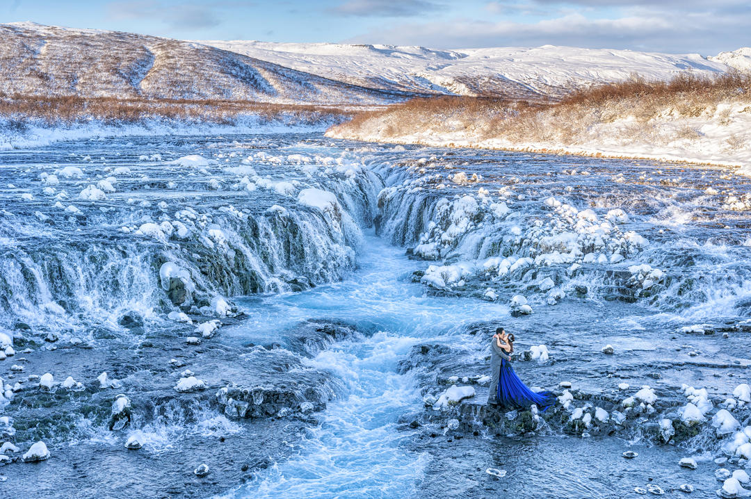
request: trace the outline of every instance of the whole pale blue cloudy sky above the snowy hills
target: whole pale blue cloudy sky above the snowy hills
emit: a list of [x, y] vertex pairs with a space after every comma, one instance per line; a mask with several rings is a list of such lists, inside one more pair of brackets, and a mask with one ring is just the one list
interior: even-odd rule
[[572, 47], [713, 55], [751, 46], [748, 0], [0, 0], [33, 21], [191, 40]]

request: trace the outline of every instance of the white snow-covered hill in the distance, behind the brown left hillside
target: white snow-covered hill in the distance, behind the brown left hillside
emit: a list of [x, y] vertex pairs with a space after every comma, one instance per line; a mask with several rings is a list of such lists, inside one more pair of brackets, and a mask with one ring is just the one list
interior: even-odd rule
[[707, 74], [728, 69], [724, 61], [698, 54], [551, 45], [431, 50], [361, 44], [201, 43], [355, 85], [457, 95], [560, 95], [593, 83], [626, 80], [632, 74], [647, 80], [669, 80], [680, 71]]

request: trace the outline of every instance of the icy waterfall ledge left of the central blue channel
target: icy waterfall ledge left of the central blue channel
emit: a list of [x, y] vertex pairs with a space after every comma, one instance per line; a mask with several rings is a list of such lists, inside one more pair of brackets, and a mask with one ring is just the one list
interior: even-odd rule
[[[378, 176], [344, 158], [232, 154], [18, 170], [0, 219], [5, 323], [42, 332], [174, 308], [216, 314], [217, 296], [302, 290], [354, 268]], [[333, 201], [298, 202], [305, 188]]]

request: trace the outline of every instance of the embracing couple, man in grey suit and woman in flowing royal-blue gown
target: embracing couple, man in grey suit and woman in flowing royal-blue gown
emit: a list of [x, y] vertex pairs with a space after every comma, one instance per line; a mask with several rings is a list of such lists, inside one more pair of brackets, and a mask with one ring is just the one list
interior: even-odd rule
[[499, 327], [490, 343], [490, 381], [488, 404], [501, 404], [509, 408], [529, 409], [535, 404], [543, 411], [555, 404], [556, 396], [551, 392], [533, 392], [519, 379], [511, 367], [511, 353], [514, 352], [514, 335]]

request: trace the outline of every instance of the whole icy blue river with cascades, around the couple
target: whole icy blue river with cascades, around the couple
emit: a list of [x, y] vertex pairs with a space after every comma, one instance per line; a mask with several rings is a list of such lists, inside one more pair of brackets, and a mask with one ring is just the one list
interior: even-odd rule
[[[715, 497], [717, 469], [746, 467], [751, 185], [728, 170], [316, 134], [80, 141], [0, 165], [0, 429], [17, 461], [36, 440], [52, 454], [0, 468], [11, 493]], [[498, 325], [546, 347], [517, 362], [530, 385], [575, 395], [533, 428], [501, 415], [500, 435], [476, 384]], [[173, 388], [191, 375], [207, 389]], [[478, 403], [430, 407], [451, 383]], [[682, 422], [689, 401], [701, 422]]]

